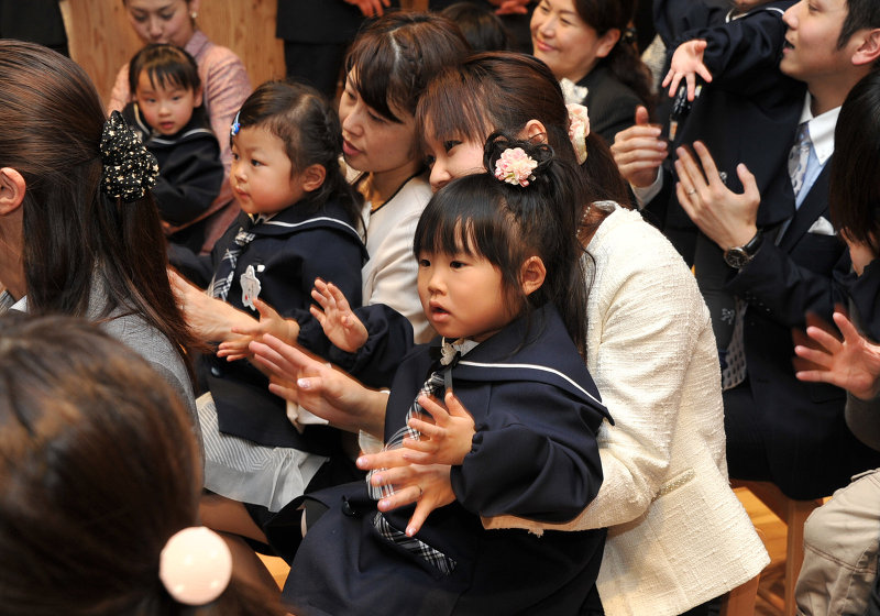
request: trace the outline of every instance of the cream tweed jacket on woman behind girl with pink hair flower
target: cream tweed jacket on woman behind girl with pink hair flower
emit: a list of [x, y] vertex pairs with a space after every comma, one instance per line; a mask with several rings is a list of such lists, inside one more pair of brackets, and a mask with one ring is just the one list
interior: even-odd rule
[[609, 527], [598, 592], [608, 616], [681, 614], [770, 561], [729, 487], [708, 310], [672, 245], [614, 206], [587, 252], [587, 361], [615, 425], [598, 433], [604, 481], [574, 520], [487, 528]]

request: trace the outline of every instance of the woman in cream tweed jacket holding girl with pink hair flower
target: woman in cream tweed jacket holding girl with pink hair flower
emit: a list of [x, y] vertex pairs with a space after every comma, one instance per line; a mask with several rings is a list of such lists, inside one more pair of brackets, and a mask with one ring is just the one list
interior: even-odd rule
[[[436, 186], [482, 169], [481, 143], [499, 127], [546, 139], [560, 156], [582, 158], [586, 150], [582, 168], [588, 176], [608, 165], [607, 150], [588, 138], [584, 150], [575, 143], [581, 151], [575, 154], [556, 79], [521, 56], [480, 55], [442, 73], [422, 97], [418, 119], [435, 160]], [[615, 183], [594, 185], [593, 201], [616, 193], [603, 186]], [[672, 615], [695, 606], [705, 613], [701, 604], [754, 578], [768, 561], [727, 483], [706, 308], [674, 249], [637, 213], [593, 202], [583, 218], [581, 241], [592, 280], [586, 365], [615, 420], [598, 433], [604, 482], [572, 521], [506, 516], [484, 524], [538, 532], [610, 527], [597, 581], [607, 614]], [[383, 414], [364, 411], [358, 385], [278, 341], [266, 342], [270, 346], [253, 345], [257, 356], [268, 358], [286, 378], [300, 377], [298, 391], [290, 392], [300, 404], [340, 427], [382, 436]], [[418, 527], [455, 495], [442, 481], [444, 490], [433, 490], [436, 475], [410, 465], [402, 451], [362, 457], [359, 465], [392, 468], [380, 474], [396, 493], [380, 508], [418, 502], [413, 517]]]

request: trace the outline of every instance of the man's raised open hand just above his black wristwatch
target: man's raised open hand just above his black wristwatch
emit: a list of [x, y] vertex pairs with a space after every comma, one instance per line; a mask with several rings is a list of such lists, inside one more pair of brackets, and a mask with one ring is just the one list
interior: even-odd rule
[[744, 191], [727, 188], [706, 146], [694, 142], [696, 157], [685, 147], [675, 153], [679, 183], [675, 194], [691, 220], [722, 250], [741, 246], [758, 232], [758, 206], [761, 196], [755, 176], [739, 164], [736, 168]]

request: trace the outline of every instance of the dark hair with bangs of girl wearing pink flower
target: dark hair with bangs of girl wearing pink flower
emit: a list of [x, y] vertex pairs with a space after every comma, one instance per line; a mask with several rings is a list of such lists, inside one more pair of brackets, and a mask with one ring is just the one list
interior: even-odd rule
[[[554, 156], [546, 144], [490, 135], [483, 163], [495, 169], [502, 154], [520, 147], [537, 161], [528, 186], [497, 179], [493, 172], [460, 177], [428, 202], [416, 228], [413, 250], [426, 253], [476, 254], [502, 272], [504, 295], [515, 314], [550, 301], [585, 356], [586, 283], [578, 229], [585, 186], [576, 165]], [[529, 256], [547, 270], [543, 285], [525, 296], [520, 270]], [[517, 306], [518, 305], [518, 306]]]

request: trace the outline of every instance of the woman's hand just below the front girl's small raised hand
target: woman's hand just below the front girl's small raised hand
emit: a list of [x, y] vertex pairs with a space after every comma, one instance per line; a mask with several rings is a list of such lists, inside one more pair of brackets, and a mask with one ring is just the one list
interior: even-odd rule
[[364, 454], [358, 459], [358, 468], [376, 471], [371, 477], [373, 485], [394, 486], [394, 494], [378, 502], [381, 512], [416, 504], [416, 510], [406, 527], [406, 534], [411, 537], [419, 531], [431, 512], [453, 503], [455, 494], [449, 479], [449, 465], [413, 464], [404, 458], [404, 453], [403, 448], [397, 448]]

